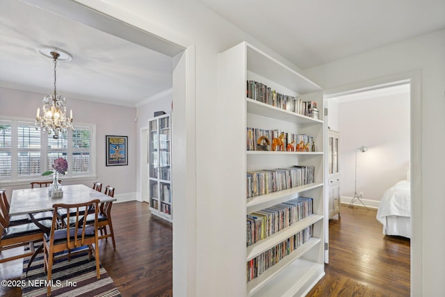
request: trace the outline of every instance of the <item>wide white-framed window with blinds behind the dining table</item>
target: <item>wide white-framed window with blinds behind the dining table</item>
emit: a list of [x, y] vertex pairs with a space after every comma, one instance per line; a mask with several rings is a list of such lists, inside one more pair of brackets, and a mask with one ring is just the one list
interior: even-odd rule
[[40, 176], [60, 157], [68, 161], [66, 176], [92, 175], [93, 131], [93, 125], [74, 126], [54, 139], [34, 122], [0, 118], [0, 180]]

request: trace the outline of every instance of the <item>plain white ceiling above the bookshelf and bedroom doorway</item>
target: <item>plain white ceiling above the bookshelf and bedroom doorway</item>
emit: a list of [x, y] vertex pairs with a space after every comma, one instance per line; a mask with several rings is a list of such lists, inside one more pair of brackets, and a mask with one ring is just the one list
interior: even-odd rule
[[200, 0], [306, 69], [445, 28], [444, 0]]

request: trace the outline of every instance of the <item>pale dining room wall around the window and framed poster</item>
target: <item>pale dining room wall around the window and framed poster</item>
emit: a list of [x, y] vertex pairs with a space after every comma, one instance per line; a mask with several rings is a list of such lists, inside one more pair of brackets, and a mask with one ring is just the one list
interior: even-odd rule
[[[37, 108], [42, 109], [42, 99], [47, 94], [33, 93], [10, 88], [0, 88], [0, 115], [14, 118], [35, 119]], [[136, 199], [136, 109], [86, 100], [67, 98], [67, 109], [72, 109], [74, 125], [96, 124], [96, 178], [72, 180], [62, 177], [63, 184], [102, 182], [115, 187], [118, 201]], [[128, 136], [128, 166], [106, 166], [105, 136]], [[125, 178], [123, 178], [125, 177]], [[16, 186], [2, 186], [10, 197], [15, 188], [29, 188], [29, 182]]]

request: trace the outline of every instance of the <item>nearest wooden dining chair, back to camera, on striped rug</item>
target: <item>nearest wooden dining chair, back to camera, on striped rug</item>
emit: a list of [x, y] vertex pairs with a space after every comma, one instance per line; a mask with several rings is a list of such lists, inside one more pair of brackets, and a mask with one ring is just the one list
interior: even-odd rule
[[[100, 278], [99, 267], [99, 238], [97, 230], [97, 215], [99, 213], [99, 199], [91, 200], [89, 202], [78, 204], [54, 204], [54, 214], [57, 214], [59, 209], [65, 209], [67, 211], [67, 217], [65, 220], [70, 224], [64, 229], [58, 229], [58, 219], [54, 216], [51, 224], [51, 232], [49, 234], [43, 234], [43, 258], [44, 258], [44, 270], [47, 273], [47, 296], [51, 296], [51, 275], [52, 266], [57, 259], [68, 257], [78, 253], [84, 252], [84, 249], [74, 250], [83, 246], [88, 246], [88, 254], [91, 255], [94, 252], [96, 261], [96, 278]], [[72, 210], [75, 209], [74, 214]], [[84, 214], [88, 214], [89, 211], [94, 211], [93, 223], [87, 224], [87, 220]], [[92, 246], [94, 244], [94, 247]], [[67, 251], [67, 254], [60, 252]]]

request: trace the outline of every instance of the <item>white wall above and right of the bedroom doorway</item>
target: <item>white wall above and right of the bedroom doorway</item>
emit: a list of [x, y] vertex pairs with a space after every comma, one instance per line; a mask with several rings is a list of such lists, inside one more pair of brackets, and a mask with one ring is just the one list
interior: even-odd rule
[[[306, 70], [324, 89], [421, 73], [419, 110], [412, 109], [412, 296], [445, 296], [445, 30]], [[416, 86], [415, 86], [416, 87]], [[419, 90], [417, 87], [415, 91]], [[413, 150], [415, 148], [416, 150]], [[414, 176], [414, 174], [416, 176]], [[417, 195], [419, 193], [419, 195]]]

